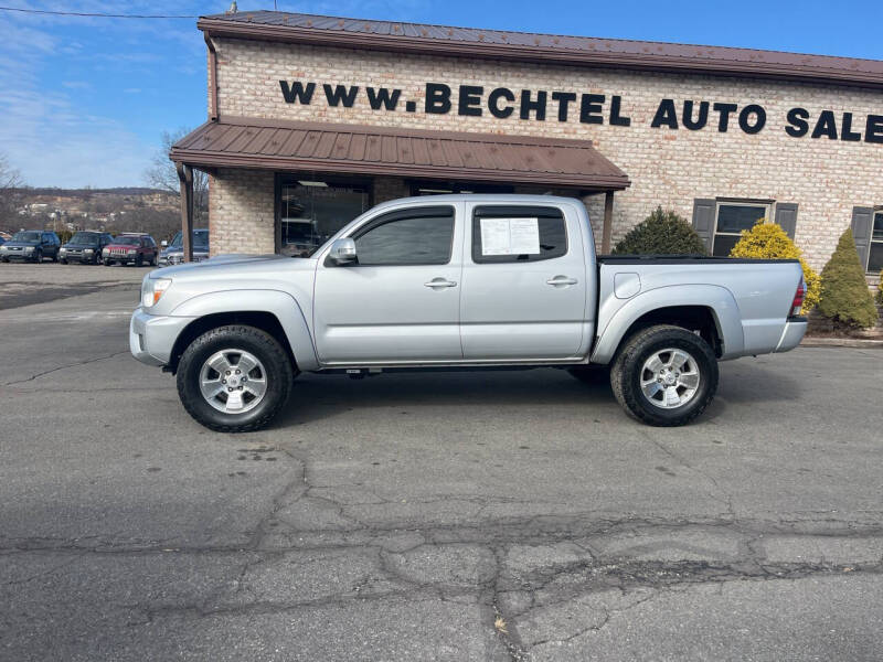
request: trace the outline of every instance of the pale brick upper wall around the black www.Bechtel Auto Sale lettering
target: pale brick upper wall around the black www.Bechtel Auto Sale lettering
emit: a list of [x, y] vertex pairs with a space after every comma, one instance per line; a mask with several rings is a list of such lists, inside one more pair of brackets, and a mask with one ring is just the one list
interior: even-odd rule
[[[621, 168], [632, 185], [617, 193], [614, 210], [614, 241], [640, 222], [657, 205], [685, 217], [695, 197], [772, 199], [799, 204], [796, 239], [809, 261], [820, 267], [833, 250], [837, 238], [849, 226], [853, 205], [883, 204], [883, 145], [843, 142], [827, 138], [791, 138], [786, 135], [785, 116], [791, 107], [808, 109], [812, 119], [823, 109], [838, 117], [853, 113], [863, 128], [866, 114], [883, 114], [879, 92], [850, 87], [798, 84], [705, 75], [636, 73], [545, 64], [464, 60], [371, 51], [330, 49], [217, 39], [219, 100], [223, 116], [276, 119], [327, 120], [380, 126], [480, 131], [509, 135], [591, 139], [607, 158]], [[311, 105], [286, 104], [279, 81], [313, 81]], [[442, 82], [454, 88], [457, 102], [460, 84], [483, 85], [486, 94], [506, 86], [517, 93], [545, 89], [596, 93], [609, 99], [621, 95], [623, 114], [629, 127], [581, 124], [578, 105], [566, 122], [557, 121], [556, 105], [550, 103], [545, 121], [521, 120], [518, 113], [507, 119], [425, 115], [422, 111], [426, 82]], [[321, 83], [359, 85], [352, 108], [329, 107]], [[395, 111], [372, 110], [365, 86], [402, 89]], [[719, 132], [716, 114], [709, 125], [690, 131], [651, 128], [662, 98], [673, 98], [680, 108], [684, 99], [763, 105], [767, 126], [759, 134], [738, 129]], [[417, 103], [416, 113], [405, 110], [405, 100]], [[858, 127], [855, 127], [858, 128]], [[394, 190], [380, 183], [376, 201]], [[213, 193], [214, 194], [214, 193]], [[593, 227], [599, 231], [604, 199], [592, 196], [588, 209]], [[270, 204], [264, 201], [262, 204]], [[242, 213], [254, 214], [252, 210]], [[242, 222], [251, 223], [243, 216]]]

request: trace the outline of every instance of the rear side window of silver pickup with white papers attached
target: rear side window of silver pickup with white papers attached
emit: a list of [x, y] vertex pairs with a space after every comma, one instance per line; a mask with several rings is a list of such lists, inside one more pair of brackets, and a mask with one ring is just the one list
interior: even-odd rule
[[567, 253], [567, 228], [556, 207], [482, 205], [472, 214], [472, 261], [536, 261]]

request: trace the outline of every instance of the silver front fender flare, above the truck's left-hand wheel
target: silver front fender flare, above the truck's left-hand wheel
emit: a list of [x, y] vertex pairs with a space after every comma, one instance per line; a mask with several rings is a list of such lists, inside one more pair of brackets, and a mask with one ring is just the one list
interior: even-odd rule
[[224, 290], [198, 295], [179, 303], [171, 316], [199, 319], [223, 312], [268, 312], [279, 320], [298, 369], [319, 367], [307, 318], [297, 300], [288, 292], [268, 289]]

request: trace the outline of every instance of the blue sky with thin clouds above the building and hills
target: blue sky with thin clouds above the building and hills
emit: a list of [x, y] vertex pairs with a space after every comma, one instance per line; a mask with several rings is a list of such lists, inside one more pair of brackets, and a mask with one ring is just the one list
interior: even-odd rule
[[[881, 0], [277, 0], [280, 11], [883, 60]], [[273, 9], [240, 0], [240, 11]], [[54, 11], [221, 13], [230, 0], [0, 0]], [[32, 186], [143, 185], [162, 131], [206, 119], [195, 19], [0, 10], [0, 153]], [[883, 93], [881, 93], [883, 111]]]

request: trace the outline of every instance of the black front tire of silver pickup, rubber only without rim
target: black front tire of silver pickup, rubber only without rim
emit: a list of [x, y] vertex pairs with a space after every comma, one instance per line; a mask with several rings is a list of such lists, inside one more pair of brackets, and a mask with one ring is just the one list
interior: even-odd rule
[[[236, 348], [254, 354], [266, 370], [267, 391], [263, 401], [244, 414], [225, 414], [212, 407], [200, 393], [200, 371], [215, 352]], [[231, 324], [206, 331], [190, 343], [178, 364], [178, 395], [188, 414], [217, 433], [251, 433], [265, 427], [285, 405], [294, 381], [291, 360], [266, 331]]]

